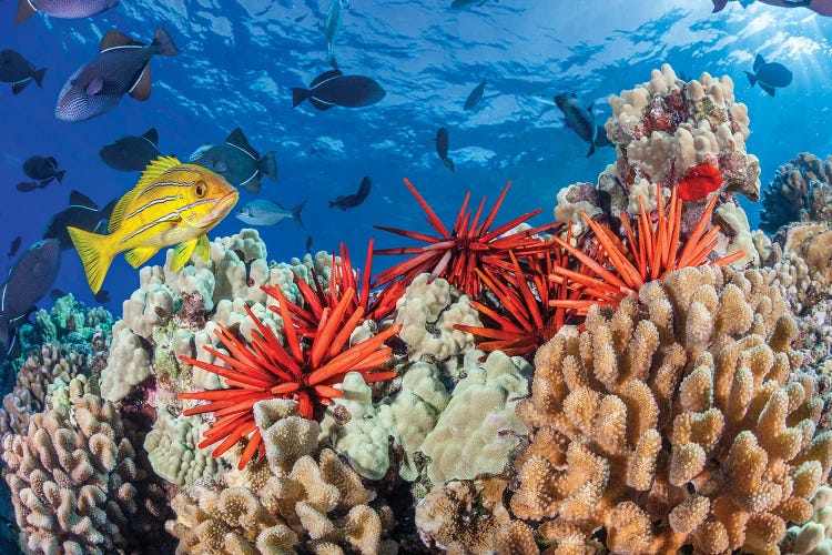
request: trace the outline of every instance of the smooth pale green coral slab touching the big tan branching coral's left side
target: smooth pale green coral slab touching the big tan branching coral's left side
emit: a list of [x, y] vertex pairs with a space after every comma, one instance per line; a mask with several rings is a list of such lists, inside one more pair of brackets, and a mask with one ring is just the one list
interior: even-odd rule
[[485, 363], [478, 362], [480, 356], [479, 351], [465, 355], [466, 375], [422, 445], [430, 457], [427, 476], [433, 484], [501, 473], [518, 436], [527, 433], [515, 406], [528, 395], [531, 365], [501, 351]]

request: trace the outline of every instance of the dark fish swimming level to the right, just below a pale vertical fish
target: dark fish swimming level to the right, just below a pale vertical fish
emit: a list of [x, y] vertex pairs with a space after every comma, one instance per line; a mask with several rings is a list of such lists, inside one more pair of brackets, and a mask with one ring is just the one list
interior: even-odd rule
[[364, 75], [345, 75], [341, 70], [329, 70], [316, 77], [308, 89], [292, 89], [292, 108], [304, 100], [318, 110], [328, 110], [339, 105], [344, 108], [364, 108], [375, 104], [385, 94], [382, 85]]

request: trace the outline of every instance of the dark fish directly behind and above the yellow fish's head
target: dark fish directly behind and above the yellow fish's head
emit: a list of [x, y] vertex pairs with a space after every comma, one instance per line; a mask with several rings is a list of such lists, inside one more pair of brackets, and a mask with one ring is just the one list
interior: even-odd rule
[[225, 178], [232, 185], [242, 186], [255, 194], [260, 192], [260, 179], [263, 175], [272, 181], [277, 180], [274, 151], [268, 151], [261, 158], [248, 144], [240, 128], [231, 132], [224, 144], [203, 144], [196, 149], [191, 154], [189, 163], [207, 168]]

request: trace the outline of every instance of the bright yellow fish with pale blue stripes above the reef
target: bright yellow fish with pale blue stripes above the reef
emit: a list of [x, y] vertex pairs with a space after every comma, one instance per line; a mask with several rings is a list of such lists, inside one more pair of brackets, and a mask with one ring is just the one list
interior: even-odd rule
[[93, 293], [104, 282], [113, 258], [123, 252], [133, 268], [160, 249], [177, 245], [171, 261], [176, 272], [196, 250], [207, 260], [205, 233], [225, 218], [240, 193], [222, 175], [200, 165], [160, 157], [148, 165], [139, 183], [113, 209], [108, 235], [67, 228]]

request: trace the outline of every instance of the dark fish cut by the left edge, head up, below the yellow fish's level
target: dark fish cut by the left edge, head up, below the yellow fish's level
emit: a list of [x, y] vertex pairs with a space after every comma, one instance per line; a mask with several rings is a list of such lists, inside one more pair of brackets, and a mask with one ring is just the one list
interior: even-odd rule
[[38, 241], [18, 259], [0, 286], [0, 363], [14, 349], [17, 329], [34, 310], [34, 303], [52, 289], [60, 264], [58, 241]]

